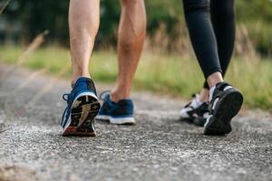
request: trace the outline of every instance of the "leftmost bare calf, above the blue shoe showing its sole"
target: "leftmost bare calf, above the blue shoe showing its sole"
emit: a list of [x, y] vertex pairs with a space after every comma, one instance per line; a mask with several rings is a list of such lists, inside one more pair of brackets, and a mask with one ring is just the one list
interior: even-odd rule
[[100, 0], [71, 0], [69, 9], [70, 43], [73, 62], [73, 81], [91, 77], [89, 62], [99, 27]]

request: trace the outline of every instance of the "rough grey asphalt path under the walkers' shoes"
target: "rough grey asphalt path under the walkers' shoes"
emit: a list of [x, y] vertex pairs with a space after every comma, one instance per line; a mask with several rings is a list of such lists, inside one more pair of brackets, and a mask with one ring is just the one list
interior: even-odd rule
[[132, 95], [135, 126], [97, 121], [96, 138], [63, 138], [70, 82], [3, 65], [0, 72], [1, 181], [272, 180], [268, 113], [248, 111], [231, 134], [209, 137], [179, 120], [185, 101], [140, 92]]

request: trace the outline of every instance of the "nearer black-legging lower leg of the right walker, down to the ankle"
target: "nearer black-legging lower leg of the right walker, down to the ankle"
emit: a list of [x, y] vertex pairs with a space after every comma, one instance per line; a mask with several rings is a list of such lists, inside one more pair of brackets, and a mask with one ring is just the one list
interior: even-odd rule
[[[222, 70], [216, 35], [210, 21], [209, 0], [183, 0], [183, 7], [189, 37], [205, 78], [220, 76]], [[211, 79], [210, 83], [215, 82]]]

